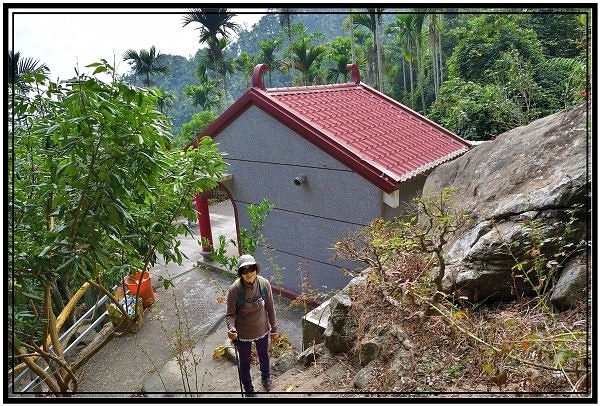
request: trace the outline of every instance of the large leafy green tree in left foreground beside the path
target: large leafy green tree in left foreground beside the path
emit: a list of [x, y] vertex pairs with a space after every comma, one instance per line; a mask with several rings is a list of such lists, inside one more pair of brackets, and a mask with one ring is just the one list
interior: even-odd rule
[[[89, 67], [113, 72], [105, 61]], [[189, 230], [174, 220], [194, 218], [191, 198], [216, 186], [225, 163], [208, 137], [172, 148], [155, 89], [85, 75], [22, 80], [37, 90], [9, 98], [9, 340], [12, 366], [38, 371], [25, 354], [64, 357], [57, 337], [81, 297], [74, 292], [93, 287], [116, 304], [111, 292], [125, 275], [158, 255], [181, 263], [177, 236]], [[72, 390], [69, 371], [80, 364], [60, 365], [62, 380], [40, 376], [53, 391]]]

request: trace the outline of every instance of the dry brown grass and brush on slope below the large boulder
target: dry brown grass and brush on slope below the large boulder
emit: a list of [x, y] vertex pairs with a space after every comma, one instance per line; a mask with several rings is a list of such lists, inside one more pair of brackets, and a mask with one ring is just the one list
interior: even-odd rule
[[[414, 275], [419, 277], [419, 275]], [[357, 340], [380, 337], [382, 351], [361, 391], [403, 396], [589, 397], [590, 308], [552, 313], [538, 299], [479, 305], [445, 300], [433, 309], [419, 280], [373, 276], [350, 292]], [[426, 281], [425, 281], [426, 282]], [[401, 337], [398, 337], [398, 332]], [[335, 362], [354, 377], [357, 345]], [[396, 361], [394, 361], [396, 360]], [[319, 390], [356, 392], [348, 378]], [[422, 395], [421, 395], [422, 394]]]

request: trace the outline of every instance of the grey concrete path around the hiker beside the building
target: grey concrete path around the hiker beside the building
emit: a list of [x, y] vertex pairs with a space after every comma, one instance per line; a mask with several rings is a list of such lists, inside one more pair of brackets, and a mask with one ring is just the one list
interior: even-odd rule
[[[211, 206], [215, 243], [220, 233], [235, 235], [231, 203], [217, 206]], [[214, 350], [227, 344], [224, 298], [235, 276], [200, 254], [197, 224], [192, 228], [193, 235], [180, 238], [184, 263], [161, 263], [150, 270], [155, 303], [145, 310], [140, 330], [113, 339], [94, 355], [80, 370], [77, 397], [139, 392], [147, 397], [241, 397], [235, 361], [213, 359]], [[164, 279], [173, 286], [165, 289]], [[300, 352], [304, 309], [277, 297], [276, 311], [280, 333]], [[258, 374], [255, 387], [260, 390], [258, 366], [253, 374]]]

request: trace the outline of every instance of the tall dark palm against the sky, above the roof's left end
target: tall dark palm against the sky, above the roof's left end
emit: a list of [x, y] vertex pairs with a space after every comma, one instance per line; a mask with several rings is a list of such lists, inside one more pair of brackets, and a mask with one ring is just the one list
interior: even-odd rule
[[190, 23], [200, 24], [200, 27], [196, 27], [200, 31], [199, 42], [208, 45], [215, 66], [213, 71], [216, 81], [219, 80], [218, 65], [223, 59], [223, 47], [219, 40], [229, 40], [231, 34], [238, 32], [239, 24], [231, 21], [235, 16], [234, 13], [228, 13], [226, 8], [196, 8], [183, 16], [184, 27]]

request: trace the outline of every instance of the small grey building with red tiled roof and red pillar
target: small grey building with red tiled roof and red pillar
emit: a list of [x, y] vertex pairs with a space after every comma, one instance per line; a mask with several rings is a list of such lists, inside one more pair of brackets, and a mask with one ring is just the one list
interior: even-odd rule
[[[256, 252], [263, 275], [290, 293], [337, 290], [360, 264], [335, 261], [333, 243], [376, 218], [392, 219], [420, 194], [427, 173], [470, 144], [390, 97], [351, 82], [265, 88], [268, 65], [252, 87], [199, 137], [218, 142], [229, 163], [221, 184], [238, 233], [249, 204], [274, 205]], [[197, 199], [206, 213], [206, 199]], [[210, 239], [208, 215], [201, 234]], [[207, 247], [210, 248], [210, 247]], [[308, 282], [308, 285], [306, 284]]]

